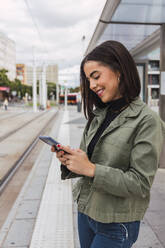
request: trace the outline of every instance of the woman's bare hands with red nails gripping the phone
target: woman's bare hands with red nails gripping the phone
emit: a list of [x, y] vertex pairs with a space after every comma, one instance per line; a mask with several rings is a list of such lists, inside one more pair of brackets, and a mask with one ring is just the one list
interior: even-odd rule
[[88, 177], [94, 177], [95, 173], [95, 164], [91, 163], [84, 151], [81, 149], [71, 149], [69, 146], [60, 146], [60, 149], [64, 151], [55, 151], [55, 148], [52, 148], [52, 151], [56, 152], [57, 158], [60, 162], [65, 165], [68, 170]]

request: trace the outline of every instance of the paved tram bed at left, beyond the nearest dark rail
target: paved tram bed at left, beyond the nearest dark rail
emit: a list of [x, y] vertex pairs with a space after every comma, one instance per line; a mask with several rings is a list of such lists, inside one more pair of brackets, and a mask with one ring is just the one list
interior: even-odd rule
[[[14, 163], [16, 163], [56, 112], [57, 109], [37, 113], [24, 112], [21, 115], [14, 112], [14, 117], [12, 115], [13, 112], [0, 111], [0, 180], [3, 180]], [[36, 119], [34, 120], [34, 118]], [[7, 134], [10, 135], [6, 138]]]

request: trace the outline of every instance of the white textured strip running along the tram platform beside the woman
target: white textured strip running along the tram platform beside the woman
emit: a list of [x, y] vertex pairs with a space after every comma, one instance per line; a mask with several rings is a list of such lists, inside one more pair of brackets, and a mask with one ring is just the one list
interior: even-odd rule
[[[58, 136], [69, 145], [68, 112], [64, 112]], [[73, 248], [73, 212], [70, 180], [61, 181], [60, 164], [55, 156], [41, 200], [30, 248]]]

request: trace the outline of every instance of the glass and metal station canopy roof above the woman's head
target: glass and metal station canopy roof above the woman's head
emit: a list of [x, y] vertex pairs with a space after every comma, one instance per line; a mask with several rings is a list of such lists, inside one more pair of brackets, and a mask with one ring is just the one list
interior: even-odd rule
[[164, 13], [165, 0], [107, 0], [86, 53], [106, 40], [135, 49], [149, 36], [160, 36]]

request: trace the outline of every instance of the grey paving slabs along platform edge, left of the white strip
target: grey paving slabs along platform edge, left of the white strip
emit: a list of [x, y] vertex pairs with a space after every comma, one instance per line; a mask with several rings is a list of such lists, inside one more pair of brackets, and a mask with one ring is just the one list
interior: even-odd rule
[[[60, 123], [61, 122], [59, 117], [54, 121], [51, 131], [49, 130], [50, 136], [54, 137], [55, 139], [57, 139]], [[25, 136], [26, 135], [28, 134], [25, 133]], [[49, 173], [49, 168], [52, 161], [52, 155], [53, 154], [50, 151], [50, 147], [46, 144], [43, 146], [43, 149], [41, 149], [40, 153], [38, 153], [38, 157], [32, 166], [32, 170], [24, 182], [19, 195], [0, 230], [1, 248], [30, 247], [29, 244], [31, 242], [33, 228], [36, 224], [38, 209], [41, 205], [40, 201], [43, 200], [43, 191], [45, 190], [47, 175]], [[55, 178], [53, 178], [53, 180], [56, 182]], [[10, 193], [12, 194], [12, 192]], [[56, 194], [53, 195], [56, 196]], [[48, 203], [51, 205], [50, 201], [48, 201]], [[58, 213], [58, 211], [55, 212]], [[46, 218], [44, 218], [44, 220], [47, 219], [47, 215], [48, 212], [45, 211]], [[72, 217], [71, 214], [69, 216]], [[47, 230], [49, 231], [48, 228]], [[35, 247], [38, 248], [41, 246]], [[42, 247], [46, 248], [46, 246]], [[47, 247], [50, 248], [50, 246]]]

